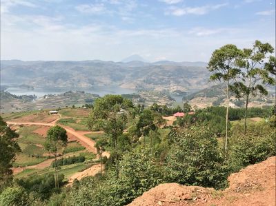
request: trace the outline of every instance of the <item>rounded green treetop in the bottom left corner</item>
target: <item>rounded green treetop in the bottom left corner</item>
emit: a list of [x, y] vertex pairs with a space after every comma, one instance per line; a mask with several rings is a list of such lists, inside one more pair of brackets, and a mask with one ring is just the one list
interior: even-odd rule
[[0, 194], [0, 205], [30, 205], [30, 200], [26, 189], [19, 186], [7, 187]]

